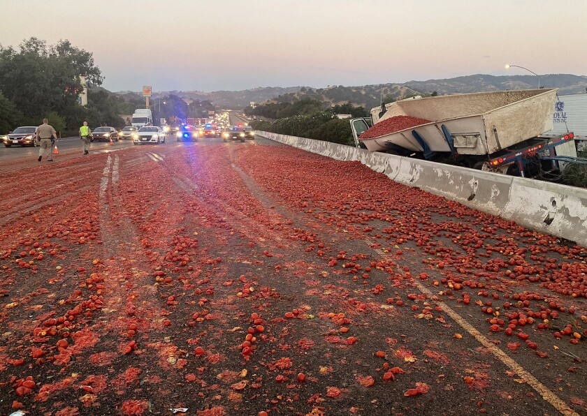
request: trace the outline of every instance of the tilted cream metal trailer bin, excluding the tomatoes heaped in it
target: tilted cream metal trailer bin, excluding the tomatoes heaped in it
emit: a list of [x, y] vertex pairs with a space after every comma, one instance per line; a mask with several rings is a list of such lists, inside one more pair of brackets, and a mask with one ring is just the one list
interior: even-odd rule
[[380, 119], [381, 107], [373, 108], [373, 121], [406, 115], [430, 123], [359, 140], [371, 151], [399, 146], [410, 151], [493, 154], [551, 130], [555, 98], [556, 89], [525, 89], [396, 101], [386, 105]]

